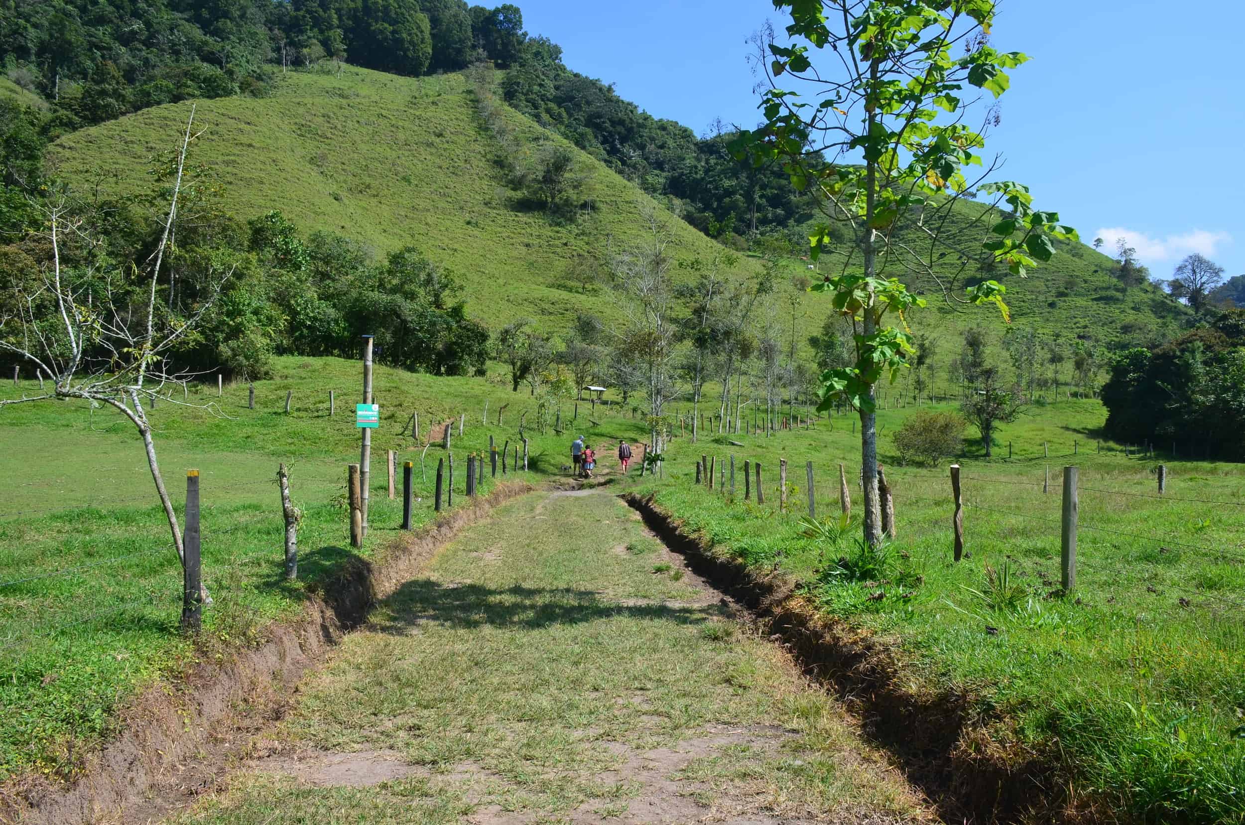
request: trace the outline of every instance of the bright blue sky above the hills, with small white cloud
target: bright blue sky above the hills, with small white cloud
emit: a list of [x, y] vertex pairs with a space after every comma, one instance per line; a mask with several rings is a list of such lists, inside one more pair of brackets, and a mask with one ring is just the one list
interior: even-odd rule
[[[566, 65], [705, 132], [757, 120], [746, 61], [768, 0], [519, 0]], [[1082, 238], [1125, 237], [1155, 278], [1200, 252], [1245, 274], [1240, 70], [1245, 0], [1007, 0], [994, 42], [1012, 72], [989, 150]]]

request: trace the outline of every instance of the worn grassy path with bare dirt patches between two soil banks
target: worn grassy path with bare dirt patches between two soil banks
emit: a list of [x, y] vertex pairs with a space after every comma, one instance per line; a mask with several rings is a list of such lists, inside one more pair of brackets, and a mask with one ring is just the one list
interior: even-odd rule
[[901, 776], [604, 491], [500, 507], [189, 823], [891, 823]]

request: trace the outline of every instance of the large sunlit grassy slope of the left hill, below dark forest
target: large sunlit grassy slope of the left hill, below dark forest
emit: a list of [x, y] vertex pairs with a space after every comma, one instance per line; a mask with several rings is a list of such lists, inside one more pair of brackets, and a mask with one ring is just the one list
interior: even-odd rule
[[[148, 158], [176, 145], [189, 111], [189, 103], [174, 103], [82, 130], [54, 145], [51, 156], [71, 181], [102, 171], [116, 174], [107, 184], [113, 192], [143, 192], [151, 186]], [[560, 140], [513, 117], [524, 136]], [[457, 74], [291, 74], [270, 98], [200, 101], [195, 122], [207, 130], [195, 157], [215, 168], [227, 207], [239, 218], [280, 209], [304, 232], [339, 232], [378, 252], [413, 244], [453, 270], [468, 312], [494, 328], [528, 315], [561, 329], [579, 309], [606, 312], [611, 300], [604, 293], [559, 284], [576, 255], [600, 255], [610, 239], [637, 238], [642, 206], [656, 206], [580, 155], [590, 172], [591, 213], [558, 226], [515, 208], [469, 85]], [[717, 249], [664, 216], [677, 258]]]

